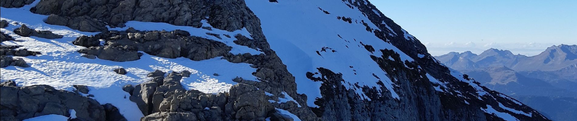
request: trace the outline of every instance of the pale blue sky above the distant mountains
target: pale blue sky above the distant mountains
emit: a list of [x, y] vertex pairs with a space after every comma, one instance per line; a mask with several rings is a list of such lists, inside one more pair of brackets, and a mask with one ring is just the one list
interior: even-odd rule
[[577, 44], [577, 1], [369, 0], [433, 55], [489, 48], [533, 56]]

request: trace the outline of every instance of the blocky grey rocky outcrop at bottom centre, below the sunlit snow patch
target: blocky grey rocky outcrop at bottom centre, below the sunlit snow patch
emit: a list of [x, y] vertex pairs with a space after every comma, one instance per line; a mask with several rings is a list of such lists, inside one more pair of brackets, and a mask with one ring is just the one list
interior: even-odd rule
[[147, 115], [142, 120], [286, 119], [268, 102], [269, 97], [262, 89], [237, 84], [229, 92], [218, 94], [194, 89], [187, 91], [179, 82], [185, 74], [172, 72], [166, 77], [156, 76], [147, 83], [136, 85], [134, 89], [125, 86], [125, 91], [132, 95], [130, 100]]

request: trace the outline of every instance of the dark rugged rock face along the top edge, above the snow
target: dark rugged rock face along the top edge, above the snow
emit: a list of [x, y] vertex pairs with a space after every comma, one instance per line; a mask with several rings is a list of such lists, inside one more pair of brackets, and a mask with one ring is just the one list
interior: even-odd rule
[[[40, 1], [32, 13], [50, 15], [48, 24], [82, 28], [89, 25], [102, 29], [78, 29], [81, 31], [106, 30], [104, 22], [123, 27], [126, 21], [166, 22], [178, 26], [200, 28], [202, 19], [215, 28], [230, 32], [252, 22], [254, 14], [241, 0], [194, 0], [194, 1]], [[103, 22], [93, 21], [100, 20]], [[66, 23], [66, 24], [65, 24]], [[95, 25], [95, 26], [92, 26]]]

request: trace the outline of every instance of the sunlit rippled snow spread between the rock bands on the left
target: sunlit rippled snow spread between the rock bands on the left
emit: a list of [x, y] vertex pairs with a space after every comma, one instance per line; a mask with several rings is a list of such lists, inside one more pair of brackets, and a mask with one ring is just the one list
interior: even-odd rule
[[[136, 103], [129, 100], [129, 93], [122, 91], [122, 86], [126, 84], [140, 84], [151, 80], [147, 77], [149, 72], [159, 69], [164, 72], [170, 71], [190, 71], [190, 77], [182, 79], [181, 83], [186, 89], [197, 89], [205, 93], [225, 92], [230, 89], [231, 85], [236, 84], [232, 81], [235, 77], [242, 77], [243, 79], [256, 80], [252, 72], [256, 72], [255, 68], [250, 67], [250, 64], [245, 63], [230, 63], [226, 60], [215, 57], [209, 60], [192, 61], [189, 58], [162, 58], [151, 56], [144, 53], [140, 60], [129, 62], [115, 62], [108, 60], [101, 60], [99, 58], [89, 59], [81, 57], [81, 53], [76, 52], [82, 49], [82, 46], [72, 44], [72, 41], [79, 36], [90, 36], [97, 33], [80, 32], [72, 30], [66, 26], [48, 25], [42, 20], [46, 19], [48, 15], [33, 14], [29, 11], [31, 6], [35, 6], [39, 1], [35, 1], [32, 5], [26, 5], [21, 8], [4, 8], [1, 7], [1, 18], [10, 23], [7, 28], [0, 29], [3, 33], [14, 37], [14, 41], [2, 42], [2, 45], [23, 45], [22, 49], [38, 51], [42, 54], [39, 56], [15, 57], [24, 58], [24, 60], [31, 65], [29, 68], [20, 67], [6, 67], [0, 69], [2, 77], [0, 81], [14, 80], [19, 86], [47, 84], [57, 89], [65, 89], [72, 91], [72, 85], [88, 85], [89, 92], [95, 97], [100, 104], [111, 103], [117, 107], [120, 113], [129, 121], [140, 120], [144, 115], [136, 106]], [[39, 37], [21, 37], [14, 34], [12, 31], [20, 25], [12, 25], [13, 22], [26, 24], [29, 28], [38, 30], [50, 30], [55, 34], [61, 34], [64, 37], [59, 39], [45, 39]], [[136, 24], [136, 25], [135, 25]], [[205, 34], [205, 29], [181, 27], [181, 26], [167, 26], [152, 22], [129, 22], [128, 26], [133, 26], [135, 29], [146, 30], [174, 30], [182, 29], [188, 30], [193, 35]], [[208, 24], [207, 24], [208, 25]], [[117, 28], [124, 30], [126, 28]], [[246, 30], [237, 30], [235, 32], [226, 32], [218, 29], [213, 29], [211, 33], [223, 34], [227, 33], [230, 36], [234, 34], [243, 34], [250, 37]], [[245, 48], [243, 46], [235, 45], [233, 40], [222, 36], [223, 40], [213, 36], [207, 37], [216, 41], [223, 41], [227, 45], [233, 46], [233, 52], [259, 54], [257, 50]], [[125, 68], [128, 71], [126, 75], [118, 75], [113, 72], [116, 68]], [[219, 73], [221, 76], [212, 76], [212, 73]], [[88, 94], [81, 94], [83, 96]]]

